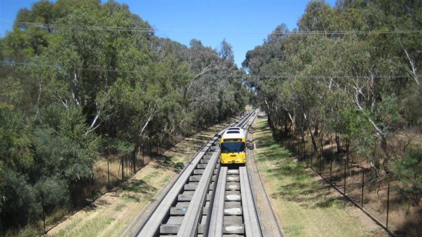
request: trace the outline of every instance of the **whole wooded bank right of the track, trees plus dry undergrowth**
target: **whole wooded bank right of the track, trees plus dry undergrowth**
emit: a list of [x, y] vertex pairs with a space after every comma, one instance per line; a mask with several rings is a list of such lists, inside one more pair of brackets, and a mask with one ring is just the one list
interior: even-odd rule
[[421, 12], [421, 1], [309, 1], [298, 34], [277, 26], [242, 63], [274, 138], [296, 154], [305, 143], [319, 173], [333, 161], [332, 180], [405, 236], [422, 236], [422, 33], [399, 32], [420, 29]]

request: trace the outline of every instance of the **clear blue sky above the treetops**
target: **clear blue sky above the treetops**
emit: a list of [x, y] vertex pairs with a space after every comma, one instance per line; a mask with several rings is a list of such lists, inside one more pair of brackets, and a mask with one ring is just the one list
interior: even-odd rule
[[[37, 1], [0, 0], [0, 20], [14, 21], [21, 8]], [[105, 2], [102, 0], [102, 2]], [[226, 39], [233, 47], [240, 67], [246, 52], [261, 45], [277, 25], [297, 27], [307, 0], [121, 0], [132, 13], [158, 29], [156, 35], [188, 45], [197, 39], [218, 48]], [[335, 0], [328, 0], [332, 6]], [[11, 30], [11, 22], [0, 22], [0, 37]], [[249, 33], [244, 33], [249, 32]]]

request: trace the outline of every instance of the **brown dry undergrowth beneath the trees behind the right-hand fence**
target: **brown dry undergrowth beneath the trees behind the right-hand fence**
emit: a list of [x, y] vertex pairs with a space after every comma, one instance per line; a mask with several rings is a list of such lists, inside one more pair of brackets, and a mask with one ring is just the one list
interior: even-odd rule
[[[304, 137], [303, 145], [301, 138], [280, 138], [280, 143], [288, 148], [295, 156], [308, 166], [312, 166], [357, 205], [363, 206], [364, 210], [377, 219], [383, 226], [387, 226], [387, 203], [388, 203], [388, 230], [396, 236], [422, 236], [422, 200], [418, 205], [411, 206], [406, 200], [405, 194], [400, 194], [399, 187], [402, 185], [394, 180], [394, 176], [385, 175], [382, 167], [378, 170], [371, 168], [369, 157], [365, 157], [351, 149], [349, 162], [346, 158], [344, 141], [341, 140], [339, 149], [334, 140], [334, 134], [324, 134], [322, 141], [318, 137], [318, 154], [311, 153], [311, 139]], [[298, 144], [299, 141], [299, 144]], [[420, 131], [415, 129], [399, 130], [390, 134], [387, 151], [395, 158], [403, 155], [406, 146], [422, 146]], [[322, 145], [321, 145], [322, 144]], [[321, 153], [321, 147], [323, 152]], [[299, 154], [297, 153], [299, 149]], [[303, 155], [305, 154], [305, 156]], [[313, 154], [311, 156], [311, 154]], [[394, 154], [394, 156], [393, 156]], [[375, 152], [375, 163], [382, 157], [381, 151]], [[346, 165], [346, 169], [345, 169]], [[381, 165], [381, 164], [376, 164]], [[389, 191], [388, 191], [389, 184]], [[362, 198], [363, 187], [363, 198]], [[389, 200], [388, 200], [389, 195]], [[387, 201], [388, 200], [388, 201]]]

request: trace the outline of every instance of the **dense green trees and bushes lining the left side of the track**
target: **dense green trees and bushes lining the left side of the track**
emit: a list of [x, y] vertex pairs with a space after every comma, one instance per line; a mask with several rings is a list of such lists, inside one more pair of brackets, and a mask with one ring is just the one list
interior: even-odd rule
[[34, 3], [0, 39], [0, 58], [30, 64], [0, 65], [7, 227], [36, 222], [41, 194], [47, 212], [81, 196], [72, 187], [90, 180], [100, 153], [140, 151], [152, 140], [204, 128], [241, 112], [248, 97], [246, 73], [226, 40], [212, 49], [159, 38], [115, 1]]

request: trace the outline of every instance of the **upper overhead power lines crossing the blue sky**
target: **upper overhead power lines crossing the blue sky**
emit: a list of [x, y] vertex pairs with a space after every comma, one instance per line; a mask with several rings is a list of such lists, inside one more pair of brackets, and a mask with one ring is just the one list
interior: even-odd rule
[[[12, 21], [0, 20], [1, 23], [13, 23]], [[82, 26], [82, 25], [60, 25], [60, 24], [42, 24], [30, 22], [16, 22], [19, 25], [36, 26], [50, 29], [66, 30], [87, 30], [87, 31], [110, 31], [110, 32], [175, 32], [175, 33], [218, 33], [218, 34], [296, 34], [296, 35], [353, 35], [353, 34], [418, 34], [422, 30], [391, 30], [391, 31], [254, 31], [254, 30], [206, 30], [206, 29], [160, 29], [160, 28], [142, 28], [142, 27], [110, 27], [110, 26]]]

